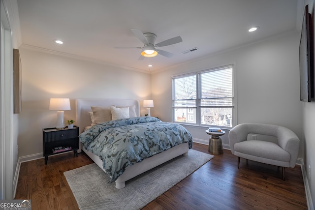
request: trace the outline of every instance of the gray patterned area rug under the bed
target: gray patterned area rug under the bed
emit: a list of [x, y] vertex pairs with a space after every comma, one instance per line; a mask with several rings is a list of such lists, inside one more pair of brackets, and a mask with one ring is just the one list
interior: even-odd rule
[[175, 184], [188, 177], [214, 156], [189, 150], [148, 172], [126, 181], [126, 187], [116, 189], [95, 163], [71, 171], [64, 176], [80, 210], [137, 210], [141, 209]]

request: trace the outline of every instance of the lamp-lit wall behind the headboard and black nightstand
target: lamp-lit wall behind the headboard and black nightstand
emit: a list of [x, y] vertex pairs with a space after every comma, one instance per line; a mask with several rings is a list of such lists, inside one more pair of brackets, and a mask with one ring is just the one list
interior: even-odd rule
[[[76, 98], [151, 98], [151, 75], [20, 47], [22, 112], [19, 114], [19, 156], [42, 156], [42, 128], [55, 127], [50, 98], [70, 98], [64, 119], [75, 119]], [[141, 110], [144, 115], [146, 110]], [[74, 123], [75, 124], [75, 123]], [[44, 161], [44, 160], [43, 160]]]

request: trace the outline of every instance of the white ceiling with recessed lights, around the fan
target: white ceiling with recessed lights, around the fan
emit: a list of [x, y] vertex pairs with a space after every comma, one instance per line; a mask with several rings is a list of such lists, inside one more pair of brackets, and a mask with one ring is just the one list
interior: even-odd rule
[[[174, 54], [151, 58], [150, 71], [296, 30], [298, 0], [18, 0], [22, 43], [129, 69], [148, 71], [130, 29], [155, 33]], [[259, 30], [248, 32], [253, 26]], [[61, 39], [58, 45], [53, 40]], [[199, 50], [183, 54], [191, 48]]]

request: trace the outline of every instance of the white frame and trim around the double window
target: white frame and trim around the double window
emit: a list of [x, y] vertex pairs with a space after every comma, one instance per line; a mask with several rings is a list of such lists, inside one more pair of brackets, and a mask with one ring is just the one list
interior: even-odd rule
[[[229, 106], [228, 108], [231, 108], [232, 109], [232, 126], [215, 126], [215, 125], [208, 125], [208, 124], [202, 124], [201, 123], [201, 108], [205, 107], [205, 106], [201, 106], [201, 99], [199, 98], [199, 91], [201, 89], [200, 85], [199, 84], [199, 77], [200, 77], [200, 74], [202, 73], [205, 73], [205, 72], [209, 72], [209, 71], [217, 71], [217, 70], [222, 70], [222, 69], [226, 69], [226, 68], [232, 68], [232, 97], [231, 97], [231, 100], [232, 100], [232, 105]], [[174, 98], [174, 94], [175, 94], [175, 88], [174, 88], [174, 80], [175, 79], [178, 79], [178, 78], [183, 78], [183, 77], [188, 77], [188, 76], [191, 76], [191, 75], [195, 75], [196, 76], [196, 98], [195, 99], [192, 99], [192, 100], [195, 100], [195, 107], [191, 107], [191, 106], [188, 106], [186, 107], [187, 109], [195, 109], [195, 123], [193, 122], [189, 122], [189, 119], [187, 119], [187, 122], [179, 122], [179, 121], [175, 121], [175, 108], [176, 106], [174, 101], [175, 101], [175, 98]], [[237, 124], [237, 108], [236, 108], [236, 94], [235, 94], [235, 91], [236, 91], [236, 85], [235, 85], [235, 79], [234, 79], [234, 66], [233, 64], [230, 64], [230, 65], [225, 65], [225, 66], [220, 66], [220, 67], [215, 67], [215, 68], [211, 68], [211, 69], [205, 69], [205, 70], [200, 70], [198, 72], [191, 72], [191, 73], [188, 73], [188, 74], [183, 74], [183, 75], [177, 75], [177, 76], [173, 76], [172, 77], [172, 121], [175, 122], [175, 123], [180, 123], [180, 124], [187, 124], [187, 125], [194, 125], [194, 126], [201, 126], [201, 127], [221, 127], [221, 128], [225, 128], [225, 129], [231, 129], [233, 126], [235, 126]], [[179, 108], [179, 107], [177, 107]], [[185, 107], [183, 107], [185, 108]]]

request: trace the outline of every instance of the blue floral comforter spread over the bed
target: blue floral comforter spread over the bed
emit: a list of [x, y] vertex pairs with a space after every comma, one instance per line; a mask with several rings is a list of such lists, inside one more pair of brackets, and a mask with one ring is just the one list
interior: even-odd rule
[[146, 157], [186, 142], [189, 149], [192, 147], [192, 137], [186, 128], [153, 117], [106, 121], [87, 129], [79, 138], [86, 150], [103, 161], [110, 182]]

